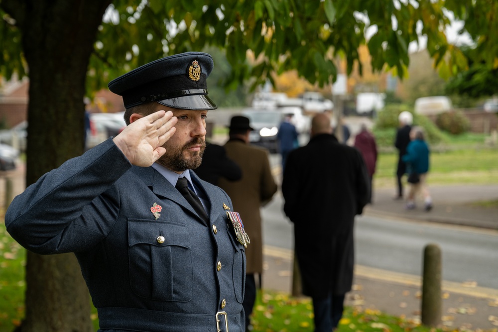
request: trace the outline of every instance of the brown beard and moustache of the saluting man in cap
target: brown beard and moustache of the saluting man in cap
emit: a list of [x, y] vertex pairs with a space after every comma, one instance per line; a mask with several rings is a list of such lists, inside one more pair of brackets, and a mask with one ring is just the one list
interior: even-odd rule
[[[190, 147], [199, 144], [201, 145], [200, 151], [188, 151]], [[201, 165], [202, 155], [206, 149], [206, 141], [196, 137], [192, 138], [181, 147], [165, 146], [165, 148], [166, 153], [159, 158], [157, 163], [174, 172], [183, 172], [187, 169], [196, 169]]]

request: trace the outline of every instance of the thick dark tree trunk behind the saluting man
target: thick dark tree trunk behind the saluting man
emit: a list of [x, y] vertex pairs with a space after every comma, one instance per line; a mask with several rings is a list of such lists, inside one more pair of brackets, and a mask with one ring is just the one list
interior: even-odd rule
[[[12, 9], [11, 15], [22, 31], [29, 67], [29, 185], [83, 152], [87, 67], [97, 28], [111, 0], [3, 2]], [[72, 253], [28, 253], [25, 305], [20, 332], [94, 330], [88, 289]]]

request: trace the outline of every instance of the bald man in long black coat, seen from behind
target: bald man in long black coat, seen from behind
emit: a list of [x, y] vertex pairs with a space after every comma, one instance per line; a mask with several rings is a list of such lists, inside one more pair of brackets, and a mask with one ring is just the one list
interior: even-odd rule
[[326, 114], [313, 117], [309, 143], [289, 154], [282, 194], [315, 331], [330, 332], [353, 284], [354, 221], [368, 202], [369, 176], [360, 151], [338, 142]]

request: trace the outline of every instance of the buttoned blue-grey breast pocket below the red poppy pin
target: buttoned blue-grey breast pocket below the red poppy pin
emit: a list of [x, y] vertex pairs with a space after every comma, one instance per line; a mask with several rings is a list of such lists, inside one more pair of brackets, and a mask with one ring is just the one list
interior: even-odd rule
[[187, 226], [174, 221], [128, 219], [131, 289], [144, 298], [188, 302], [193, 264]]

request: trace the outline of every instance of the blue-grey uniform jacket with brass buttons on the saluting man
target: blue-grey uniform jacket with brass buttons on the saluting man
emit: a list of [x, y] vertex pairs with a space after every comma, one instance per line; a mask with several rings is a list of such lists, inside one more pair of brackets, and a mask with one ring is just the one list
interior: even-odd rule
[[208, 197], [209, 225], [159, 172], [132, 166], [109, 139], [29, 186], [5, 225], [35, 253], [76, 254], [99, 331], [216, 332], [218, 314], [220, 331], [227, 318], [230, 332], [243, 332], [246, 257], [226, 216], [232, 201], [191, 175]]

